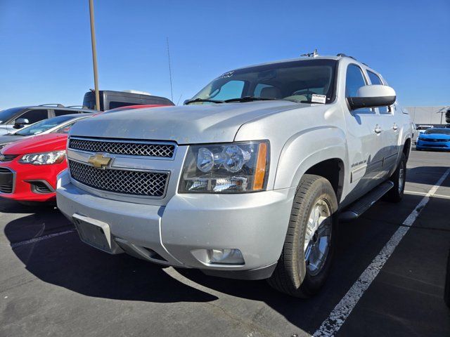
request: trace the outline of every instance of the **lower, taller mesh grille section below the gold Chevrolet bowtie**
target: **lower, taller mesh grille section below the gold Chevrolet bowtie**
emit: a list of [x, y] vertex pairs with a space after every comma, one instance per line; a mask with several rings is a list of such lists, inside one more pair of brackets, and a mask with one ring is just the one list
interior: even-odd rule
[[167, 173], [96, 169], [73, 160], [69, 160], [69, 169], [72, 178], [97, 190], [148, 197], [165, 193]]

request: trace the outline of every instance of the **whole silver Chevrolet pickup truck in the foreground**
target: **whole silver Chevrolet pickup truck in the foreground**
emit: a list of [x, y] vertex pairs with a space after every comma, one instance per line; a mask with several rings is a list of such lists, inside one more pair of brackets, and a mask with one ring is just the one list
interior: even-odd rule
[[178, 107], [79, 121], [58, 208], [82, 241], [308, 297], [338, 220], [403, 196], [411, 120], [343, 54], [226, 72]]

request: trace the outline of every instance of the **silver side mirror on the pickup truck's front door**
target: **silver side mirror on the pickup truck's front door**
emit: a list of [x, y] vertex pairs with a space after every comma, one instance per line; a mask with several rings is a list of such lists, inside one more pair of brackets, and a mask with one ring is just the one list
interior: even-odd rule
[[361, 107], [385, 107], [395, 103], [397, 95], [390, 86], [361, 86], [356, 93], [356, 97], [347, 97], [347, 101], [352, 110]]

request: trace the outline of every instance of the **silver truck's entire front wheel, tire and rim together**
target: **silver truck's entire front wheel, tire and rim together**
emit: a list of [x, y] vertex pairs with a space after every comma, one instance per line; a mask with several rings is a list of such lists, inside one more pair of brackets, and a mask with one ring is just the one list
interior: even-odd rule
[[268, 280], [274, 289], [300, 298], [319, 291], [333, 259], [337, 211], [330, 182], [305, 174], [297, 187], [283, 251]]

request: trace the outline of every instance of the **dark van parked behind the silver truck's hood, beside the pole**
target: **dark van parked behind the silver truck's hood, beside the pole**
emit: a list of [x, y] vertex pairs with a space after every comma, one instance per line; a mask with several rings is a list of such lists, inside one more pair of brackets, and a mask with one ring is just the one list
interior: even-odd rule
[[[142, 91], [98, 91], [100, 95], [100, 109], [106, 111], [116, 107], [127, 107], [129, 105], [174, 105], [172, 100], [165, 97], [153, 96]], [[83, 105], [89, 109], [96, 110], [96, 93], [88, 91], [84, 94]]]

